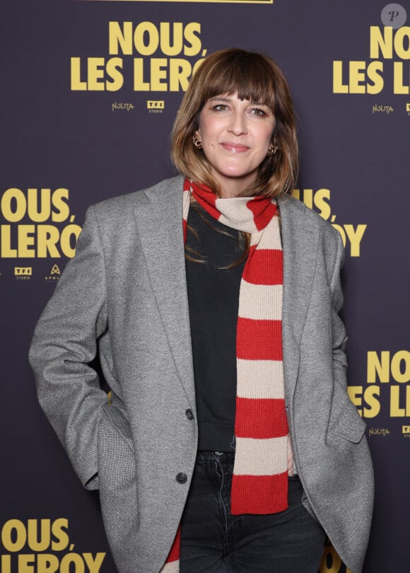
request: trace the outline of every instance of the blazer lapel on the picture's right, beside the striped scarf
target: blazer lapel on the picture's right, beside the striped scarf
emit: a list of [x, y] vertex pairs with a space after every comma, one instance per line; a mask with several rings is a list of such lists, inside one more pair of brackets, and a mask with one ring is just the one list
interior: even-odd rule
[[278, 200], [283, 241], [283, 374], [286, 403], [293, 406], [300, 361], [300, 340], [315, 276], [319, 227], [307, 207], [292, 197]]

